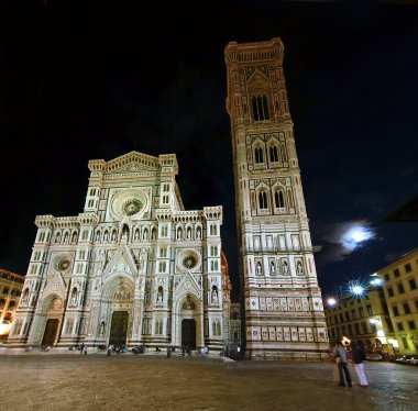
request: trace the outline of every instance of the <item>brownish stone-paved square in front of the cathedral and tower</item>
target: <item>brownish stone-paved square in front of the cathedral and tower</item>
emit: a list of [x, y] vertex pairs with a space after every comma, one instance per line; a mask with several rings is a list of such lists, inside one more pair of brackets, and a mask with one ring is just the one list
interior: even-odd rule
[[[112, 355], [1, 355], [2, 411], [418, 409], [418, 367], [365, 363], [369, 388], [331, 363]], [[353, 381], [356, 381], [351, 368]]]

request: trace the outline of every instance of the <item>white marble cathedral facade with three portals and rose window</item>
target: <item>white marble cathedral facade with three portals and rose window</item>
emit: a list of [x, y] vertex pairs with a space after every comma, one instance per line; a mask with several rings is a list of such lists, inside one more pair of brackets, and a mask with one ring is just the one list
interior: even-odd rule
[[174, 154], [88, 166], [81, 213], [36, 216], [8, 345], [220, 351], [230, 291], [222, 207], [184, 209]]

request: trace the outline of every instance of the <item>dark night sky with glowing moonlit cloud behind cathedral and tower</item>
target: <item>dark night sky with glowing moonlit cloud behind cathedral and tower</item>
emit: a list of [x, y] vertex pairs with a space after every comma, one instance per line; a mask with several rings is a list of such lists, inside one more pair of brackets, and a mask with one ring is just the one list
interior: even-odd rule
[[175, 153], [186, 210], [223, 206], [237, 293], [223, 52], [272, 37], [323, 295], [416, 248], [417, 222], [385, 222], [418, 193], [416, 2], [180, 3], [1, 3], [0, 267], [26, 273], [36, 215], [82, 212], [89, 159]]

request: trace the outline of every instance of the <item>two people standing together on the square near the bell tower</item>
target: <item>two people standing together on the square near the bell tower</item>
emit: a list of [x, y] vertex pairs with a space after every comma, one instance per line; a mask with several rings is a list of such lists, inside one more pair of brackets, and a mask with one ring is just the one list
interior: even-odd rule
[[[365, 359], [365, 354], [362, 348], [362, 346], [355, 342], [351, 348], [351, 356], [352, 362], [354, 364], [355, 374], [358, 375], [359, 382], [361, 387], [367, 387], [367, 378], [364, 374], [364, 364], [363, 360]], [[352, 380], [351, 375], [349, 370], [349, 364], [348, 364], [348, 352], [346, 348], [342, 345], [341, 340], [337, 342], [337, 351], [336, 351], [336, 358], [337, 358], [337, 365], [338, 365], [338, 374], [340, 379], [340, 387], [344, 387], [344, 376], [345, 381], [349, 387], [352, 387]]]

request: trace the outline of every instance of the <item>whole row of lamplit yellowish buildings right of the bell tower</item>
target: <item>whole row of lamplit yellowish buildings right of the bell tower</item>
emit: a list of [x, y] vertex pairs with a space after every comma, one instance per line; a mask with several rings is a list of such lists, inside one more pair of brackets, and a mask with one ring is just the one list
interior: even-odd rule
[[[381, 282], [380, 282], [381, 281]], [[361, 342], [367, 353], [385, 358], [418, 354], [418, 249], [371, 276], [362, 296], [326, 302], [330, 338]]]

